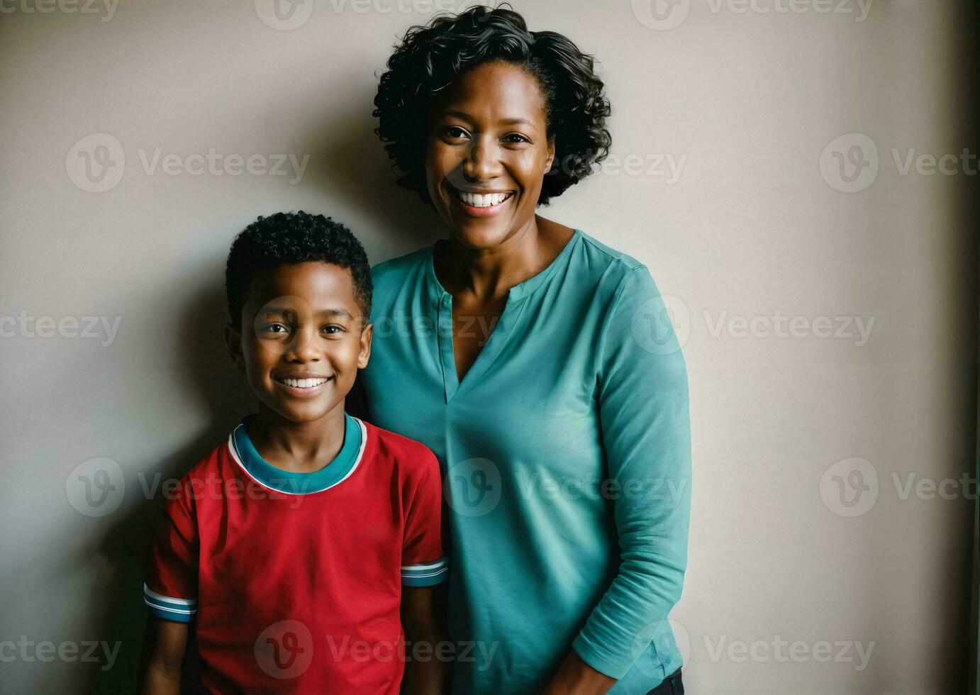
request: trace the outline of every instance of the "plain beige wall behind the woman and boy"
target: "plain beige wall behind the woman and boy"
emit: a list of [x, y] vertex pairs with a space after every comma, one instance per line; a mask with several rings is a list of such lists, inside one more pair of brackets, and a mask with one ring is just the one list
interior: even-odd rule
[[[252, 407], [221, 347], [232, 235], [302, 208], [377, 262], [442, 234], [369, 116], [374, 73], [433, 5], [453, 3], [301, 0], [276, 20], [267, 0], [0, 0], [0, 641], [121, 642], [111, 669], [0, 645], [0, 691], [133, 677], [162, 504], [143, 486]], [[515, 8], [600, 58], [614, 109], [606, 168], [544, 214], [647, 263], [687, 336], [694, 508], [671, 619], [689, 692], [960, 692], [972, 501], [928, 484], [973, 470], [976, 176], [915, 158], [969, 146], [977, 167], [962, 5]], [[878, 156], [854, 182], [838, 158], [874, 155], [849, 133]], [[209, 150], [221, 174], [194, 157]], [[229, 155], [266, 160], [231, 175]], [[274, 155], [309, 160], [260, 174]], [[97, 469], [119, 484], [91, 507], [79, 476]]]

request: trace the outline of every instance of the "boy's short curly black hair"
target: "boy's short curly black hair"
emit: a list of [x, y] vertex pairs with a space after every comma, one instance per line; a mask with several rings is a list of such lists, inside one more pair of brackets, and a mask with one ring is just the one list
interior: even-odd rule
[[242, 307], [254, 273], [307, 261], [332, 263], [351, 272], [354, 296], [368, 323], [371, 279], [364, 246], [343, 224], [301, 210], [260, 217], [231, 243], [224, 271], [231, 324], [241, 328]]

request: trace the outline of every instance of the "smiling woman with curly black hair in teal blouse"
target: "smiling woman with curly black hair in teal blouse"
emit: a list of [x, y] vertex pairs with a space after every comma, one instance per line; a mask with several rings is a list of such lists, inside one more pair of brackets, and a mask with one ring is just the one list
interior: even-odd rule
[[372, 270], [360, 381], [443, 466], [454, 692], [683, 692], [684, 361], [645, 266], [535, 214], [608, 153], [591, 57], [475, 7], [410, 29], [374, 103], [449, 230]]

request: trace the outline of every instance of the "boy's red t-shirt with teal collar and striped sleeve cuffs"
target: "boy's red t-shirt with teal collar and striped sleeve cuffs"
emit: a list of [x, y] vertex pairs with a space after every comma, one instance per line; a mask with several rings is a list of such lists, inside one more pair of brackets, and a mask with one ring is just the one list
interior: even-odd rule
[[170, 495], [144, 602], [195, 621], [216, 692], [398, 693], [402, 586], [448, 574], [435, 455], [345, 414], [329, 465], [285, 472], [258, 454], [249, 421]]

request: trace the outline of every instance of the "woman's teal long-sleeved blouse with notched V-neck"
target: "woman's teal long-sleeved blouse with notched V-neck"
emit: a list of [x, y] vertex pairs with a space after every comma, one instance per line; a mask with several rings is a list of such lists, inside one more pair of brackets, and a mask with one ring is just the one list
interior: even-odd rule
[[[455, 693], [540, 692], [569, 648], [646, 693], [681, 666], [684, 359], [647, 268], [576, 229], [511, 288], [463, 380], [432, 247], [374, 266], [368, 421], [444, 473]], [[461, 328], [466, 330], [466, 326]]]

